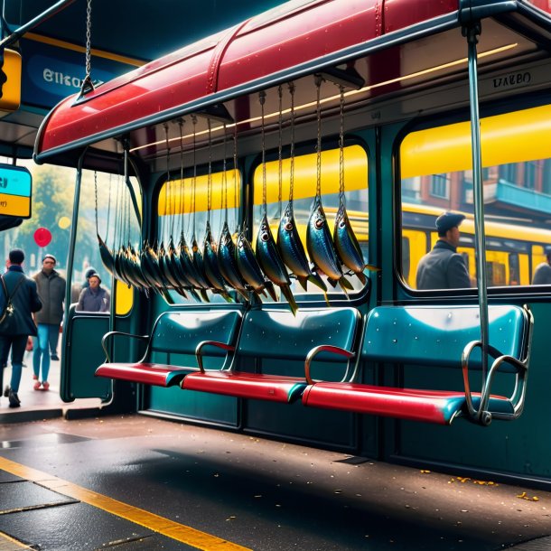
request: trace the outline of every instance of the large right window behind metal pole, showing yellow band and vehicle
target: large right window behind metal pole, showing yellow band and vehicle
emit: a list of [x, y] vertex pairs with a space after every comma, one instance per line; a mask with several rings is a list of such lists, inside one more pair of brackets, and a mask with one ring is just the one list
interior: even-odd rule
[[[546, 251], [551, 251], [550, 132], [551, 106], [481, 119], [489, 286], [551, 284], [546, 261]], [[466, 286], [450, 283], [457, 282], [449, 268], [455, 262], [454, 273], [464, 265], [470, 286], [476, 285], [470, 123], [406, 135], [400, 155], [402, 238], [409, 239], [409, 249], [402, 247], [406, 284], [424, 289]], [[453, 229], [438, 235], [436, 219], [446, 210], [465, 217], [455, 237]], [[462, 256], [462, 265], [453, 251]], [[444, 279], [429, 277], [431, 286], [425, 274], [444, 274]]]

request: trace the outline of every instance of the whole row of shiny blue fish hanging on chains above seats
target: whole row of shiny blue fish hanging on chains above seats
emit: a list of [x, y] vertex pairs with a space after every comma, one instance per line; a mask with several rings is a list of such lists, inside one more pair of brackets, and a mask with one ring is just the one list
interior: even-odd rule
[[[191, 295], [195, 300], [201, 302], [210, 301], [209, 292], [219, 294], [226, 301], [231, 302], [233, 299], [229, 293], [230, 290], [234, 290], [244, 301], [251, 300], [252, 296], [257, 297], [259, 300], [269, 296], [274, 301], [277, 301], [278, 297], [275, 287], [279, 287], [281, 294], [285, 296], [293, 313], [298, 310], [298, 305], [291, 289], [292, 278], [295, 278], [304, 290], [307, 289], [308, 282], [316, 285], [321, 289], [325, 297], [327, 297], [328, 287], [322, 275], [325, 275], [330, 286], [334, 288], [340, 285], [345, 293], [353, 289], [349, 280], [350, 276], [355, 275], [360, 279], [362, 284], [365, 284], [366, 276], [363, 273], [364, 269], [375, 270], [377, 268], [365, 263], [358, 239], [351, 227], [345, 207], [342, 175], [339, 209], [335, 217], [332, 232], [322, 207], [321, 163], [319, 157], [321, 155], [319, 89], [318, 83], [318, 174], [316, 195], [306, 227], [306, 247], [304, 247], [300, 238], [294, 218], [293, 95], [291, 109], [291, 185], [289, 200], [285, 210], [283, 210], [275, 237], [270, 228], [266, 209], [265, 96], [261, 94], [263, 204], [255, 248], [253, 249], [251, 243], [248, 241], [245, 229], [236, 228], [233, 233], [230, 231], [228, 224], [228, 202], [226, 200], [226, 219], [223, 221], [218, 238], [213, 236], [210, 227], [209, 203], [202, 247], [197, 242], [194, 218], [191, 244], [187, 242], [182, 229], [179, 238], [174, 238], [173, 232], [171, 232], [166, 244], [163, 241], [160, 243], [145, 241], [141, 250], [135, 250], [128, 240], [127, 245], [121, 245], [118, 250], [113, 250], [107, 247], [105, 241], [98, 234], [100, 254], [107, 270], [127, 285], [132, 285], [146, 293], [153, 290], [162, 294], [169, 302], [172, 302], [168, 293], [169, 289], [173, 289], [183, 297]], [[341, 89], [341, 118], [342, 98], [343, 93]], [[341, 171], [342, 173], [343, 171]], [[227, 193], [227, 190], [225, 191]], [[194, 206], [192, 210], [194, 216]], [[306, 254], [306, 250], [308, 254]]]

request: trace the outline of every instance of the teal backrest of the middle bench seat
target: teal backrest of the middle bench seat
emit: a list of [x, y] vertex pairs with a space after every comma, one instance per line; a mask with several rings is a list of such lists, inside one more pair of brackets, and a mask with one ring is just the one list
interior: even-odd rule
[[[332, 344], [350, 350], [357, 336], [360, 313], [355, 308], [251, 310], [245, 314], [237, 353], [262, 359], [303, 360], [313, 347]], [[320, 360], [342, 361], [334, 354]]]

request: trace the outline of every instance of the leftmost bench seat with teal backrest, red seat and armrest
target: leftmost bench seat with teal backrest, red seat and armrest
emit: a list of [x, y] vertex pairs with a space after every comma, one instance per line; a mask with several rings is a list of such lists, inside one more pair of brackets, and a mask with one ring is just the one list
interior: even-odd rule
[[[154, 352], [170, 355], [194, 356], [199, 343], [212, 339], [219, 346], [211, 348], [210, 356], [223, 358], [221, 368], [230, 362], [230, 350], [236, 342], [242, 314], [237, 310], [182, 311], [162, 313], [154, 322], [151, 335], [134, 335], [125, 332], [108, 332], [101, 344], [106, 353], [106, 362], [96, 369], [97, 377], [173, 387], [179, 385], [188, 373], [199, 369], [197, 366], [179, 366], [152, 363]], [[138, 339], [147, 342], [142, 360], [137, 362], [112, 362], [109, 355], [110, 341], [114, 338]], [[220, 360], [222, 361], [222, 360]]]

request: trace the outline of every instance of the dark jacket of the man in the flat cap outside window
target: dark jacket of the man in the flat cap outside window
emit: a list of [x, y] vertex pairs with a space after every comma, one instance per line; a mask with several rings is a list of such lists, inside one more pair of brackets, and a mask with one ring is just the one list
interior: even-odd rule
[[417, 289], [462, 289], [471, 286], [463, 257], [444, 239], [419, 261]]

